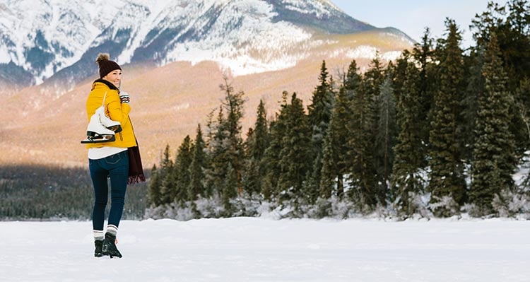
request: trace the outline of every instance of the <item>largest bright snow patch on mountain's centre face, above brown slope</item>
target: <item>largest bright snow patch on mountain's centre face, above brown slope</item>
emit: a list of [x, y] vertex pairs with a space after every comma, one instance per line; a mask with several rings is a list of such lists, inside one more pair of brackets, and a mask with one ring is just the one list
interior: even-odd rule
[[[211, 5], [205, 5], [204, 8], [210, 8]], [[230, 69], [232, 75], [242, 76], [286, 69], [303, 59], [287, 54], [285, 50], [310, 40], [312, 35], [292, 23], [273, 23], [271, 19], [276, 13], [271, 4], [265, 1], [240, 0], [227, 2], [225, 5], [216, 23], [201, 35], [201, 40], [176, 43], [163, 64], [172, 61], [190, 61], [196, 64], [211, 60], [217, 61], [221, 69]], [[190, 11], [182, 14], [199, 13], [193, 8], [187, 8], [185, 11]], [[200, 11], [199, 14], [205, 12]], [[199, 20], [208, 18], [201, 17]], [[232, 28], [235, 20], [241, 20], [240, 28]], [[182, 33], [204, 24], [206, 23], [192, 22]]]

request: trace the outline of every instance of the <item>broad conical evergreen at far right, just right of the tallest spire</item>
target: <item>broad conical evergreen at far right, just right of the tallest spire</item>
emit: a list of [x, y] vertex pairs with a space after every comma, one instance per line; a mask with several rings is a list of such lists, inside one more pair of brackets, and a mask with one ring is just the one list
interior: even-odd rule
[[478, 100], [477, 139], [473, 151], [470, 198], [478, 215], [493, 213], [494, 196], [513, 188], [512, 174], [517, 165], [514, 139], [508, 129], [513, 96], [506, 90], [507, 74], [500, 56], [497, 37], [493, 33], [485, 54], [486, 93]]

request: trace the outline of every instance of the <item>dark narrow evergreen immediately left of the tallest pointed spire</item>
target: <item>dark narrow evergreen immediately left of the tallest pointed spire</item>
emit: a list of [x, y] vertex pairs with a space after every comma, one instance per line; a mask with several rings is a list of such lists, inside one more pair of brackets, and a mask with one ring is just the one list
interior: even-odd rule
[[421, 168], [423, 168], [423, 143], [420, 119], [420, 73], [413, 64], [408, 64], [406, 81], [397, 102], [399, 136], [394, 148], [394, 172], [392, 189], [398, 199], [399, 211], [411, 215], [417, 210], [416, 195], [423, 192]]

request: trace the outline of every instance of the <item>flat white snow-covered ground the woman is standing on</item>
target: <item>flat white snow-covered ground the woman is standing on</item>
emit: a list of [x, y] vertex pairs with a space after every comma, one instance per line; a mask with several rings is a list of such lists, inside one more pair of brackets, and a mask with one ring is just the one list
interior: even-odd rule
[[0, 281], [530, 281], [530, 221], [122, 221], [122, 259], [91, 231], [0, 222]]

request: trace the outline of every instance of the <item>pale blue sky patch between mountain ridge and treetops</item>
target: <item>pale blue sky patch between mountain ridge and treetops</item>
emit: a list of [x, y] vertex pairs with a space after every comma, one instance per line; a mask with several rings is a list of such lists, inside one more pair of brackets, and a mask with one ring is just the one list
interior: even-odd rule
[[[444, 37], [445, 18], [455, 20], [462, 31], [461, 47], [474, 45], [469, 25], [475, 15], [487, 10], [490, 0], [331, 0], [356, 20], [377, 28], [397, 28], [417, 42], [425, 27], [432, 37]], [[507, 0], [493, 0], [504, 5]]]

